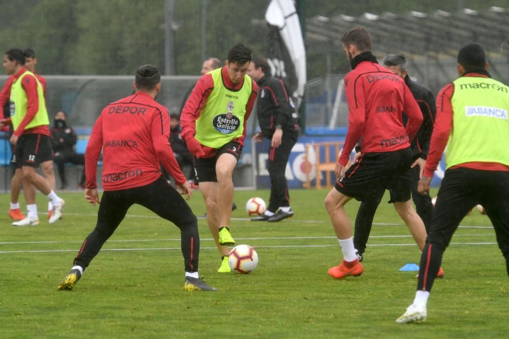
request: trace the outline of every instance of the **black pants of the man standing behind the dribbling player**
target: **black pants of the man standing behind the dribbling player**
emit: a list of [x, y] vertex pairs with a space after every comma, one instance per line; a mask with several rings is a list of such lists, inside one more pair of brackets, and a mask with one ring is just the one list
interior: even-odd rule
[[270, 146], [269, 148], [267, 170], [270, 176], [270, 199], [267, 210], [271, 212], [275, 212], [279, 207], [290, 206], [285, 170], [297, 137], [297, 133], [284, 131], [279, 147]]

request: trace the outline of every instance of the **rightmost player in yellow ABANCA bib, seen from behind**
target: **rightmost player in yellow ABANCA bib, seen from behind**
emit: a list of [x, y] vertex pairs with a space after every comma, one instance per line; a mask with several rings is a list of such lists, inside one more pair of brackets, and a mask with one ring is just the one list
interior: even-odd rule
[[426, 320], [427, 303], [442, 256], [461, 220], [475, 205], [486, 209], [509, 274], [509, 86], [491, 78], [484, 49], [467, 44], [458, 53], [459, 78], [437, 97], [437, 119], [418, 190], [427, 193], [445, 152], [430, 233], [420, 258], [417, 292], [397, 323]]

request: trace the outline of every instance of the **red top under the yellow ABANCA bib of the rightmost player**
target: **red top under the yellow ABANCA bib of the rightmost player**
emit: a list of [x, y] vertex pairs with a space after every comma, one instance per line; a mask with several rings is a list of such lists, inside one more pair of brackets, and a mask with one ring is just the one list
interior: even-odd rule
[[[466, 77], [483, 77], [488, 78], [487, 75], [469, 73], [464, 75]], [[433, 127], [433, 134], [431, 136], [430, 151], [426, 159], [426, 167], [424, 174], [427, 177], [433, 177], [433, 173], [437, 169], [447, 141], [449, 140], [450, 129], [453, 127], [453, 105], [450, 100], [454, 94], [454, 83], [449, 83], [440, 90], [437, 97], [437, 117]], [[471, 168], [484, 171], [509, 171], [509, 167], [500, 163], [490, 162], [469, 162], [452, 166], [455, 168]]]

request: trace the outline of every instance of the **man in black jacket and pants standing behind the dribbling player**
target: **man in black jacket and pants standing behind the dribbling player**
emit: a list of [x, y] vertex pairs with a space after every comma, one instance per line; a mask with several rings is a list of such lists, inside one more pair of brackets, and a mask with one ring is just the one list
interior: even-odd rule
[[258, 83], [256, 111], [261, 132], [252, 139], [255, 142], [262, 141], [264, 137], [271, 140], [267, 163], [271, 184], [269, 206], [264, 214], [251, 221], [277, 222], [293, 215], [285, 169], [299, 136], [297, 113], [285, 83], [270, 75], [265, 58], [253, 58], [247, 74]]

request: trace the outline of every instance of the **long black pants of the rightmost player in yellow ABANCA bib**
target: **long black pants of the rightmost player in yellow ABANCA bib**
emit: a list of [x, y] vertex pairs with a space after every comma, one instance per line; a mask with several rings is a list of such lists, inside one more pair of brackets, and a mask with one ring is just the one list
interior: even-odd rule
[[495, 228], [509, 274], [509, 172], [447, 170], [438, 191], [430, 233], [422, 251], [418, 290], [431, 291], [442, 256], [465, 215], [480, 204]]

